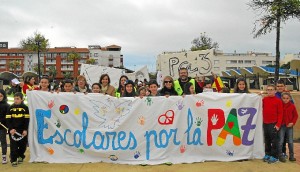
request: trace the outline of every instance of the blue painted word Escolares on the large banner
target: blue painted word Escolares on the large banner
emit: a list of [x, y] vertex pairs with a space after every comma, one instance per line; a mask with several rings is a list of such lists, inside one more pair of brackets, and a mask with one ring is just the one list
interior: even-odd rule
[[[58, 145], [65, 143], [68, 146], [74, 146], [76, 148], [82, 146], [85, 149], [89, 149], [93, 146], [93, 148], [96, 150], [107, 150], [110, 147], [112, 150], [133, 150], [137, 147], [137, 140], [131, 131], [129, 132], [129, 135], [127, 135], [127, 133], [124, 131], [120, 131], [118, 133], [102, 133], [100, 131], [96, 131], [94, 133], [92, 141], [88, 144], [88, 141], [86, 140], [86, 131], [88, 128], [89, 120], [86, 112], [82, 114], [82, 130], [75, 130], [73, 134], [70, 129], [66, 129], [62, 133], [59, 130], [56, 130], [52, 136], [50, 136], [49, 138], [44, 138], [44, 130], [48, 129], [48, 124], [45, 123], [44, 120], [45, 118], [51, 118], [51, 110], [37, 109], [36, 120], [38, 127], [37, 136], [39, 144], [53, 144], [53, 140], [55, 140], [55, 143]], [[100, 140], [100, 143], [97, 144], [96, 140]]]

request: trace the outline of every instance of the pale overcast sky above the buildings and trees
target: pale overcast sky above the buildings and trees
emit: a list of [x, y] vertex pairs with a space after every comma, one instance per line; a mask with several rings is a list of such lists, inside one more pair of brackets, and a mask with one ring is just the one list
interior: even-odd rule
[[[0, 0], [0, 41], [18, 47], [35, 31], [51, 47], [88, 45], [122, 47], [125, 67], [155, 70], [163, 51], [189, 50], [206, 32], [219, 49], [271, 52], [275, 31], [253, 39], [258, 16], [250, 0]], [[300, 21], [282, 25], [281, 54], [300, 52]], [[136, 66], [134, 66], [136, 65]]]

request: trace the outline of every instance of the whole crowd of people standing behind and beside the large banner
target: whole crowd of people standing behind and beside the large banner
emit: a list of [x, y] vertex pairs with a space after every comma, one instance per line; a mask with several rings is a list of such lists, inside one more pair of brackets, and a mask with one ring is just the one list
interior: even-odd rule
[[[10, 161], [16, 167], [23, 162], [27, 145], [27, 131], [29, 124], [28, 107], [24, 104], [24, 96], [30, 90], [40, 90], [48, 92], [81, 92], [99, 93], [113, 97], [144, 97], [144, 96], [185, 96], [202, 92], [229, 93], [226, 86], [221, 87], [218, 77], [213, 74], [211, 80], [202, 77], [196, 80], [188, 76], [186, 68], [179, 69], [179, 78], [174, 80], [171, 76], [165, 76], [162, 86], [159, 88], [155, 80], [133, 82], [126, 75], [119, 79], [119, 86], [115, 88], [111, 85], [108, 74], [100, 76], [99, 82], [93, 83], [90, 87], [85, 76], [79, 75], [75, 81], [66, 79], [51, 89], [48, 77], [42, 77], [39, 86], [34, 85], [35, 78], [28, 76], [24, 83], [17, 79], [11, 81], [9, 89], [0, 89], [0, 138], [2, 148], [2, 164], [8, 162], [6, 134], [10, 135]], [[212, 84], [215, 88], [212, 88]], [[239, 78], [234, 87], [234, 93], [250, 93], [247, 82], [244, 78]], [[275, 163], [286, 161], [286, 143], [288, 143], [290, 161], [296, 161], [293, 149], [293, 126], [296, 124], [298, 113], [293, 104], [292, 97], [285, 90], [282, 80], [276, 85], [268, 85], [267, 95], [263, 98], [263, 131], [265, 140], [264, 161]], [[7, 103], [8, 97], [13, 97], [13, 103]], [[20, 133], [22, 139], [14, 139], [14, 135]]]

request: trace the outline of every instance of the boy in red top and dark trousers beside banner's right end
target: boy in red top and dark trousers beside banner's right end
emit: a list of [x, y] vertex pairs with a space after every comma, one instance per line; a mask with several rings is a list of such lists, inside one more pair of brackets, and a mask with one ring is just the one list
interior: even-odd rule
[[263, 98], [263, 129], [265, 139], [265, 156], [263, 160], [268, 163], [285, 161], [279, 153], [279, 129], [283, 116], [282, 101], [275, 96], [275, 86], [268, 85], [268, 95]]

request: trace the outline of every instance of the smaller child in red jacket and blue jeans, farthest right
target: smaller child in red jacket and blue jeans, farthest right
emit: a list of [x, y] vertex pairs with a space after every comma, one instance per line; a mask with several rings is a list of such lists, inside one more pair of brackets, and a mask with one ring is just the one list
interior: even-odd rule
[[290, 154], [289, 160], [296, 161], [296, 158], [294, 157], [293, 126], [297, 122], [298, 112], [295, 105], [291, 102], [292, 97], [290, 93], [283, 92], [281, 94], [281, 99], [283, 102], [283, 119], [279, 131], [279, 136], [280, 136], [279, 148], [282, 147], [284, 143], [284, 139], [287, 138], [289, 154]]

